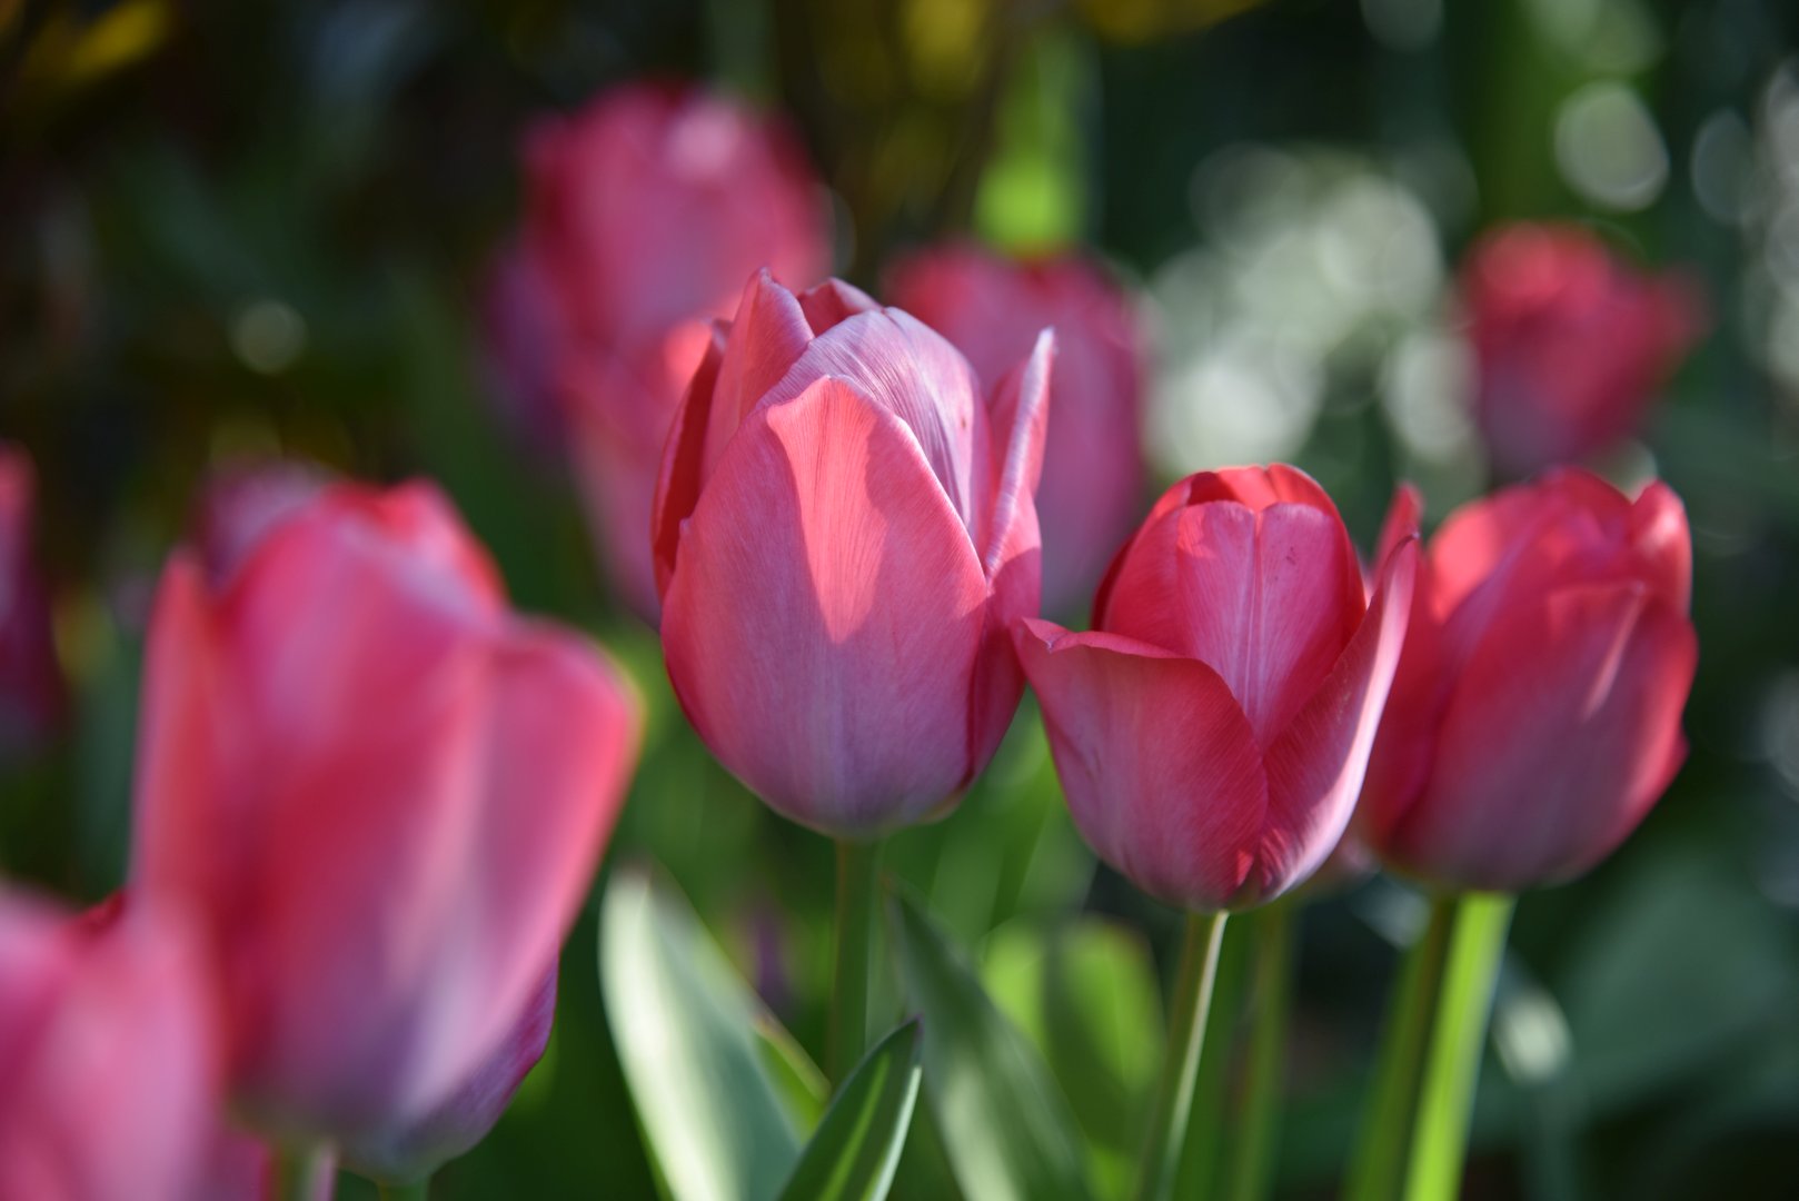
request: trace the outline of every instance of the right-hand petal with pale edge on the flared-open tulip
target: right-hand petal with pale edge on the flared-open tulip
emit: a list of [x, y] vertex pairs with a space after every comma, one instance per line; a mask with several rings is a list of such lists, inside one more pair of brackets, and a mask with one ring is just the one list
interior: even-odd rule
[[1342, 839], [1387, 704], [1418, 576], [1418, 542], [1400, 542], [1367, 616], [1324, 684], [1268, 747], [1268, 826], [1256, 866], [1261, 898], [1310, 877]]

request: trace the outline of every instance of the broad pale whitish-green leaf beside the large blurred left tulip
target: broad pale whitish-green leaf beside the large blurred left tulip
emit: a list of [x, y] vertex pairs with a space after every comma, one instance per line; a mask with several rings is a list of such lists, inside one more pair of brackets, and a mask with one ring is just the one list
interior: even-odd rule
[[[802, 1120], [774, 1016], [673, 886], [613, 873], [601, 902], [601, 990], [644, 1143], [675, 1201], [772, 1197]], [[797, 1050], [797, 1048], [795, 1048]], [[813, 1070], [817, 1071], [817, 1070]]]

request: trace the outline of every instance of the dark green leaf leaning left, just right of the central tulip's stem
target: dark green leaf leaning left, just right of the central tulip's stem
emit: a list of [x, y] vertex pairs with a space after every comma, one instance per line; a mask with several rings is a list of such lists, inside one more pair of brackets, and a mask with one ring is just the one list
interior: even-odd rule
[[894, 897], [891, 917], [900, 976], [925, 1019], [925, 1089], [962, 1192], [982, 1201], [1092, 1196], [1069, 1104], [1036, 1048], [912, 900]]

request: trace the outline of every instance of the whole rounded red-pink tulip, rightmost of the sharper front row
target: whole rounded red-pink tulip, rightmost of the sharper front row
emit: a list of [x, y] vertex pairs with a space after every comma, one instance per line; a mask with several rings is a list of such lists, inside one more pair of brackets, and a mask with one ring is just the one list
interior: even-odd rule
[[[1400, 493], [1389, 531], [1416, 528]], [[1464, 889], [1580, 875], [1686, 758], [1693, 549], [1666, 484], [1585, 472], [1504, 488], [1430, 540], [1360, 825], [1391, 866]]]

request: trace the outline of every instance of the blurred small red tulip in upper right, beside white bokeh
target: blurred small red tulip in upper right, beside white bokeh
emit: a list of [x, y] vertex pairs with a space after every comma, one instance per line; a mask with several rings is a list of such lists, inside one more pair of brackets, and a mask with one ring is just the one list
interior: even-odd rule
[[1612, 448], [1642, 423], [1704, 317], [1689, 281], [1651, 277], [1569, 225], [1513, 225], [1468, 256], [1475, 416], [1495, 465], [1526, 475]]

